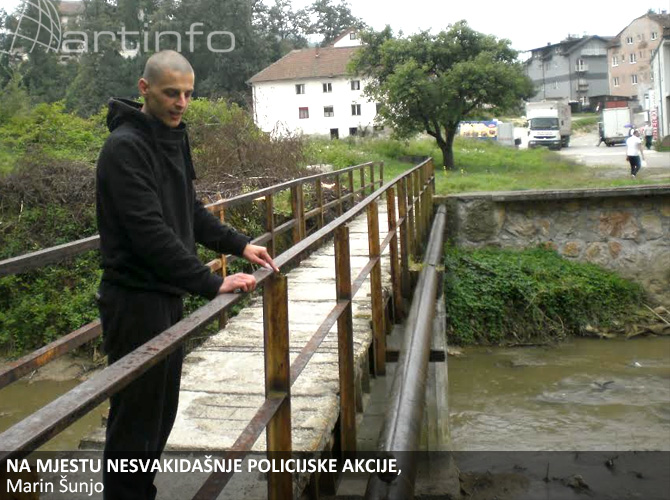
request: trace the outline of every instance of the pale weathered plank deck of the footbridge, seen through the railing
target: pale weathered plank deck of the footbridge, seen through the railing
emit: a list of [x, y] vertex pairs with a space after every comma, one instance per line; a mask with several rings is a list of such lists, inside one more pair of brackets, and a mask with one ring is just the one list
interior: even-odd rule
[[[386, 237], [386, 205], [379, 206], [380, 238]], [[369, 260], [367, 218], [349, 224], [352, 280]], [[332, 240], [287, 274], [291, 361], [335, 305], [335, 257]], [[382, 282], [390, 288], [388, 251], [382, 254]], [[357, 406], [367, 386], [368, 349], [372, 342], [370, 277], [354, 297], [354, 362]], [[263, 305], [258, 297], [226, 327], [186, 356], [179, 413], [167, 450], [214, 451], [230, 448], [264, 401]], [[338, 418], [337, 326], [291, 388], [294, 451], [320, 451], [331, 439]], [[101, 445], [96, 433], [82, 446]], [[253, 450], [266, 448], [265, 432]]]

